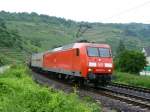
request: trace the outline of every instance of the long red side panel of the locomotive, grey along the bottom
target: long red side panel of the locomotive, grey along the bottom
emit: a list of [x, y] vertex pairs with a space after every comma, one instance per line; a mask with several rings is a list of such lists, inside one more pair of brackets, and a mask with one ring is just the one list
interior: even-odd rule
[[44, 69], [48, 71], [80, 76], [80, 67], [76, 49], [50, 52], [44, 55]]

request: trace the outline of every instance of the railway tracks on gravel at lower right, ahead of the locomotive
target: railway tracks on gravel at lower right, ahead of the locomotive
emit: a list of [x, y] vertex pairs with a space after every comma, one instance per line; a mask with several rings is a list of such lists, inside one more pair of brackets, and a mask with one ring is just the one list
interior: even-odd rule
[[150, 89], [148, 88], [111, 83], [100, 89], [106, 91], [110, 97], [150, 110]]

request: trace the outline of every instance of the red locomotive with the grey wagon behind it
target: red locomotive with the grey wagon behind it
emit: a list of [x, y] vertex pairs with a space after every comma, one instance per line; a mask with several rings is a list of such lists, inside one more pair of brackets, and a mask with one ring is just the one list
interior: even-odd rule
[[32, 55], [31, 67], [104, 84], [111, 81], [113, 59], [107, 44], [73, 43]]

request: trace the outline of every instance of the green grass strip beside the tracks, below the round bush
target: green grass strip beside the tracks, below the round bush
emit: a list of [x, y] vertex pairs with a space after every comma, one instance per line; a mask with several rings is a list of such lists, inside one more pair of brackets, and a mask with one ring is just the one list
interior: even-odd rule
[[116, 72], [113, 82], [150, 88], [150, 76]]

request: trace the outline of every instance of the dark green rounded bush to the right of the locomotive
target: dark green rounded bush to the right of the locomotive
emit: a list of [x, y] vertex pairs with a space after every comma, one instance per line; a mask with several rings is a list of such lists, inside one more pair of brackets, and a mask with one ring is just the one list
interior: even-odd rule
[[146, 57], [143, 53], [133, 50], [125, 50], [117, 60], [117, 66], [123, 72], [139, 73], [146, 65]]

